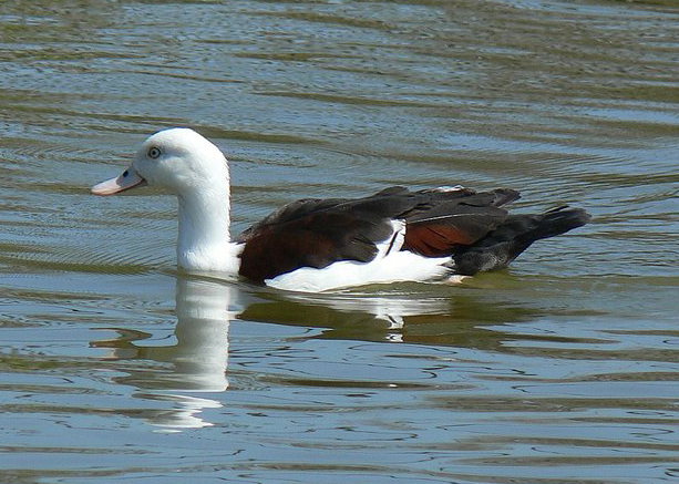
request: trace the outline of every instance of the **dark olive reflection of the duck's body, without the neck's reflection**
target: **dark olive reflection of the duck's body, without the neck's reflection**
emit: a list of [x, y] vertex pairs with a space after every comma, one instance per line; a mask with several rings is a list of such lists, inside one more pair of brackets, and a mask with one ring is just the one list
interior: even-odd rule
[[401, 287], [401, 294], [260, 294], [238, 319], [321, 329], [310, 338], [506, 351], [515, 337], [500, 328], [544, 313], [514, 291], [422, 286]]

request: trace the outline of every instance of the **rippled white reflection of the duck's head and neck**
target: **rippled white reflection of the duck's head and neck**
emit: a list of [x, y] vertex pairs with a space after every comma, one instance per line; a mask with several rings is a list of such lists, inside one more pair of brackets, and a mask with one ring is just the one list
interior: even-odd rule
[[222, 406], [218, 401], [176, 392], [223, 392], [228, 388], [228, 330], [235, 317], [234, 291], [228, 284], [178, 277], [177, 325], [172, 344], [145, 346], [143, 340], [151, 340], [151, 334], [130, 330], [117, 330], [120, 336], [115, 340], [92, 343], [111, 348], [114, 359], [161, 363], [155, 368], [128, 370], [130, 374], [116, 379], [119, 383], [144, 391], [137, 397], [176, 403], [176, 409], [150, 415], [151, 423], [164, 428], [210, 425], [200, 418], [200, 412]]

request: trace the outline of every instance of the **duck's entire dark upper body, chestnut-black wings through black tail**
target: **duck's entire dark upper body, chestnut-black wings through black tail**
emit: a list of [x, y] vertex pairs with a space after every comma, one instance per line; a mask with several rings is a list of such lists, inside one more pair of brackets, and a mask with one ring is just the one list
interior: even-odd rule
[[[292, 202], [237, 238], [245, 244], [239, 272], [263, 282], [299, 268], [370, 262], [391, 240], [388, 253], [450, 257], [451, 272], [470, 275], [503, 267], [534, 240], [588, 219], [578, 209], [510, 215], [502, 208], [518, 197], [518, 192], [506, 188], [411, 192], [397, 186], [363, 198]], [[401, 240], [400, 227], [404, 228]]]

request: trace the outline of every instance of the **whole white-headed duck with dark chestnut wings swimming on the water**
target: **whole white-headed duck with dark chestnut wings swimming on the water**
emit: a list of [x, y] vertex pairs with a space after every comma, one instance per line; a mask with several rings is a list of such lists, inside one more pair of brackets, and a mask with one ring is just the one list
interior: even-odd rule
[[148, 185], [178, 199], [177, 266], [272, 288], [321, 292], [364, 285], [454, 282], [506, 267], [534, 241], [585, 225], [582, 208], [511, 214], [511, 188], [387, 187], [361, 198], [304, 198], [232, 237], [228, 162], [188, 127], [147, 137], [109, 196]]

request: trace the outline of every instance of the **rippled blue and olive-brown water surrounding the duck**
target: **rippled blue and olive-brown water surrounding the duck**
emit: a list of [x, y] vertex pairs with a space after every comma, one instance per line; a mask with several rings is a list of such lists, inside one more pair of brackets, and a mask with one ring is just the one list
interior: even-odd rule
[[[673, 1], [0, 3], [0, 482], [679, 476]], [[96, 198], [146, 135], [305, 196], [521, 189], [590, 225], [462, 287], [175, 272], [175, 202]]]

